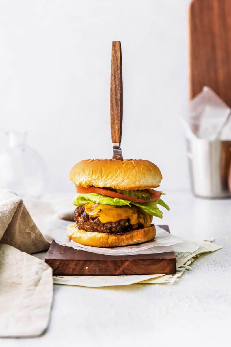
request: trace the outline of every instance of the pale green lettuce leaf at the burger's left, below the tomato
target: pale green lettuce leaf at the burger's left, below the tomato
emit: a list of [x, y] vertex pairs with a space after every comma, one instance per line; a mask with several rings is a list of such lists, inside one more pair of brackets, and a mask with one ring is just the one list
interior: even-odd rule
[[88, 203], [88, 201], [94, 202], [97, 205], [112, 205], [112, 206], [130, 206], [130, 201], [118, 199], [106, 195], [95, 194], [95, 193], [85, 193], [77, 195], [73, 200], [73, 205], [82, 206]]

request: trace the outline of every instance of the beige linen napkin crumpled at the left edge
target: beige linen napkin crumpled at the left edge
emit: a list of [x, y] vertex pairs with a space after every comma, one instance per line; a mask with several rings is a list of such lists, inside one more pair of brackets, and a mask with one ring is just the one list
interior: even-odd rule
[[0, 337], [38, 336], [46, 329], [52, 269], [26, 253], [44, 251], [49, 245], [22, 199], [0, 189]]

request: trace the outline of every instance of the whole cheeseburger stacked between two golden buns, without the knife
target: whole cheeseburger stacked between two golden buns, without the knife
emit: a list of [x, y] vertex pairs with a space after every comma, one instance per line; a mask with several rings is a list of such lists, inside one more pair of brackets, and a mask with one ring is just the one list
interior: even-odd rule
[[117, 247], [143, 243], [156, 236], [158, 205], [169, 207], [156, 189], [162, 175], [148, 160], [89, 159], [77, 163], [69, 179], [78, 195], [75, 223], [68, 237], [82, 245]]

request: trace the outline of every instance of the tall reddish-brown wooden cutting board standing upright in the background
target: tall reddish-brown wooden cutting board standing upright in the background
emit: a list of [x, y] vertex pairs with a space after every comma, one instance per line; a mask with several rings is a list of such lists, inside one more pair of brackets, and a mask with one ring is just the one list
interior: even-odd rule
[[193, 0], [189, 7], [190, 99], [211, 87], [231, 106], [231, 0]]

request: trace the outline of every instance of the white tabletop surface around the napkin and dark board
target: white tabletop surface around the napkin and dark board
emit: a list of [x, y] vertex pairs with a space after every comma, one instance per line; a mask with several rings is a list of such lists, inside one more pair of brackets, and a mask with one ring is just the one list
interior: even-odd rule
[[[41, 215], [71, 208], [71, 196], [25, 204]], [[201, 255], [175, 283], [86, 288], [54, 285], [51, 319], [42, 337], [2, 339], [1, 346], [221, 346], [230, 344], [231, 200], [168, 192], [158, 224], [185, 238], [215, 238], [223, 248]]]

